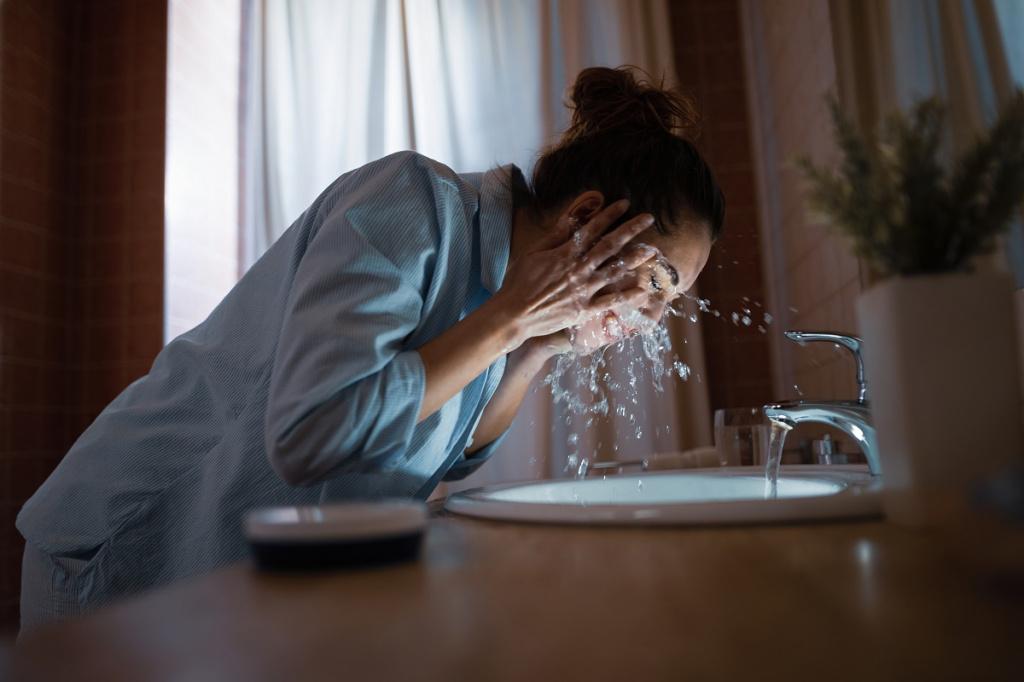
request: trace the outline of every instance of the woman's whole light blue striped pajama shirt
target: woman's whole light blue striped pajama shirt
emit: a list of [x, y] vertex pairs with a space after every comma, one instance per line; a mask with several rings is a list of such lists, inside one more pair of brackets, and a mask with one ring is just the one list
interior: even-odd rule
[[498, 442], [463, 452], [504, 358], [417, 424], [415, 349], [501, 285], [513, 172], [403, 152], [332, 183], [22, 509], [31, 545], [74, 560], [73, 596], [96, 604], [243, 558], [253, 507], [425, 499], [485, 461]]

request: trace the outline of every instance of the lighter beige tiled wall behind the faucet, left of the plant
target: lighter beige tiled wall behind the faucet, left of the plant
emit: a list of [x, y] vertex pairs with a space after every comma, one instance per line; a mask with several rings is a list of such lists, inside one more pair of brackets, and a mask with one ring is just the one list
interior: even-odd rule
[[[782, 329], [855, 332], [860, 292], [848, 245], [808, 212], [793, 161], [834, 164], [837, 152], [824, 94], [835, 89], [828, 3], [743, 0], [751, 71], [769, 299]], [[799, 347], [771, 335], [778, 397], [855, 396], [853, 363], [831, 345]]]

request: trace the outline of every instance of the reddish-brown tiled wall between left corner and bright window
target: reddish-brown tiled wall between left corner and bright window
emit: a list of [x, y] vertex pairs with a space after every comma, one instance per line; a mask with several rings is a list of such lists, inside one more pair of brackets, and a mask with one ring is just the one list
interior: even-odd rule
[[75, 191], [61, 233], [72, 232], [81, 255], [72, 258], [81, 289], [68, 340], [73, 356], [83, 335], [79, 431], [163, 345], [167, 3], [69, 4], [79, 114], [70, 122]]

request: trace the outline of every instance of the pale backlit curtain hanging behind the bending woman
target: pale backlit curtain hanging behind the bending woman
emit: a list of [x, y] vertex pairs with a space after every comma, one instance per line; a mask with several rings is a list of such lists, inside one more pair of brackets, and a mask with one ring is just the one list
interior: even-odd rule
[[[248, 0], [245, 25], [247, 265], [339, 174], [395, 151], [457, 172], [512, 162], [528, 174], [566, 127], [565, 89], [586, 67], [675, 80], [664, 0]], [[702, 377], [699, 326], [676, 327]], [[646, 435], [624, 430], [618, 457], [710, 442], [702, 383], [667, 384], [641, 388], [631, 412]], [[469, 484], [561, 472], [568, 431], [582, 429], [565, 417], [536, 391]], [[597, 425], [588, 439], [610, 453], [616, 429]]]

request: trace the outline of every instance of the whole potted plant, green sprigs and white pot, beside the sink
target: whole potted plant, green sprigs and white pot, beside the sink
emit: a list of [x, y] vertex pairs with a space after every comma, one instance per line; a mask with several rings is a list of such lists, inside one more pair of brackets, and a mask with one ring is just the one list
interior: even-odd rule
[[800, 165], [872, 272], [857, 318], [886, 514], [941, 522], [1024, 449], [1014, 287], [980, 258], [1024, 199], [1024, 92], [958, 154], [935, 98], [871, 133], [829, 105], [840, 167]]

